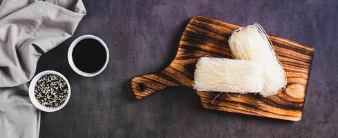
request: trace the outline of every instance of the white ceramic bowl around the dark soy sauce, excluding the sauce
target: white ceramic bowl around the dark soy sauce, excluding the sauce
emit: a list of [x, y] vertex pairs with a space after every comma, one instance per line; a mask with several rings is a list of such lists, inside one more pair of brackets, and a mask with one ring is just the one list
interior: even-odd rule
[[[99, 41], [102, 46], [104, 47], [104, 49], [106, 49], [106, 62], [104, 63], [104, 66], [98, 70], [97, 72], [93, 72], [93, 73], [88, 73], [88, 72], [83, 72], [81, 70], [79, 70], [79, 68], [77, 68], [73, 62], [73, 50], [74, 50], [74, 47], [77, 43], [79, 43], [79, 41], [83, 40], [83, 39], [95, 39], [97, 41]], [[108, 50], [108, 47], [106, 46], [106, 43], [104, 43], [104, 41], [102, 39], [100, 39], [99, 37], [96, 37], [94, 35], [82, 35], [81, 37], [77, 37], [77, 39], [75, 39], [73, 41], [73, 43], [71, 43], [71, 46], [69, 46], [69, 49], [68, 49], [68, 63], [69, 65], [71, 66], [71, 68], [79, 75], [82, 75], [84, 77], [93, 77], [95, 75], [98, 75], [100, 74], [104, 68], [106, 68], [107, 64], [108, 64], [108, 61], [109, 61], [109, 50]]]

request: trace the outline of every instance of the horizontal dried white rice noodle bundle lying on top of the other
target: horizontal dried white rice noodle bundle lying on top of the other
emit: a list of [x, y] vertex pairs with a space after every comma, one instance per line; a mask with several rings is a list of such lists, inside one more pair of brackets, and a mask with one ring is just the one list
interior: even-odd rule
[[256, 93], [263, 90], [265, 66], [257, 61], [202, 57], [196, 64], [194, 89]]

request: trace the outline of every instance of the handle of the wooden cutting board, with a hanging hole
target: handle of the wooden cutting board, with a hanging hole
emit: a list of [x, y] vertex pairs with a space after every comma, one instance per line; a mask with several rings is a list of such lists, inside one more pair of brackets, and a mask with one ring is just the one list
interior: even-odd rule
[[174, 79], [165, 74], [165, 70], [163, 70], [162, 72], [142, 75], [131, 79], [131, 88], [133, 89], [136, 99], [147, 97], [158, 90], [178, 86], [177, 83], [173, 82]]

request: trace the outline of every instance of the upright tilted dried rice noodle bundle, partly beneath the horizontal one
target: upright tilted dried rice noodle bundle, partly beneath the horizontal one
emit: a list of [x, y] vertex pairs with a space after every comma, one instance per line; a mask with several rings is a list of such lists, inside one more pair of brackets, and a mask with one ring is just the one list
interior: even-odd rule
[[234, 30], [229, 38], [229, 47], [236, 59], [261, 61], [265, 64], [265, 83], [263, 91], [260, 92], [263, 97], [276, 95], [285, 88], [285, 71], [259, 23]]

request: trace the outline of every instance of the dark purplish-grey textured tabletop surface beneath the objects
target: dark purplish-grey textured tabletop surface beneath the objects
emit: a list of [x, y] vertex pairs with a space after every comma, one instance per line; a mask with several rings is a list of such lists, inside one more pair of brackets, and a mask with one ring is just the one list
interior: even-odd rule
[[[88, 14], [75, 35], [41, 57], [38, 70], [70, 81], [62, 110], [41, 113], [40, 137], [338, 137], [338, 1], [84, 0]], [[316, 49], [301, 121], [281, 121], [203, 109], [187, 88], [136, 100], [132, 77], [165, 68], [193, 16], [245, 26]], [[71, 41], [101, 37], [110, 50], [106, 70], [81, 77], [68, 66]]]

